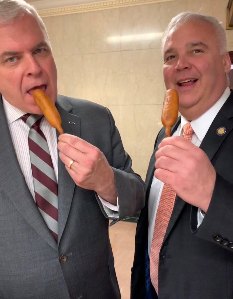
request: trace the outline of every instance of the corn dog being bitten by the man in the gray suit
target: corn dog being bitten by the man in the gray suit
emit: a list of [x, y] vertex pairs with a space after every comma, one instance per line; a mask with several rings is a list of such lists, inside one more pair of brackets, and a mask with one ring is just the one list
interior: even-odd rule
[[50, 100], [44, 91], [41, 89], [35, 89], [33, 91], [33, 99], [35, 100], [37, 106], [41, 109], [45, 118], [48, 120], [50, 125], [56, 128], [59, 134], [63, 134], [63, 129], [61, 127], [61, 117], [58, 109], [55, 107], [54, 103]]

